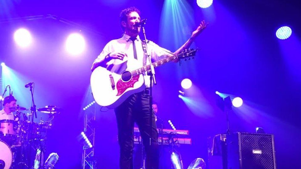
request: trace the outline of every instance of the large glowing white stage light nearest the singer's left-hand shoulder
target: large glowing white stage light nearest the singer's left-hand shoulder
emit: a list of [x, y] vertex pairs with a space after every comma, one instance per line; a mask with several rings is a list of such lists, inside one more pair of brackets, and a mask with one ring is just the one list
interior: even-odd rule
[[70, 34], [66, 41], [66, 50], [72, 55], [81, 54], [85, 50], [85, 39], [81, 34]]

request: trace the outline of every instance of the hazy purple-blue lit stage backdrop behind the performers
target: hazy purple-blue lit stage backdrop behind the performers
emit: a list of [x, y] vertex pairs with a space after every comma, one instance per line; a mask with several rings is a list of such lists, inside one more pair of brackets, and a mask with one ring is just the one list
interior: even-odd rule
[[[207, 138], [225, 133], [225, 114], [216, 106], [215, 91], [244, 100], [243, 106], [230, 114], [231, 131], [254, 132], [255, 127], [263, 127], [275, 135], [278, 168], [299, 166], [301, 6], [297, 1], [214, 0], [212, 6], [202, 9], [192, 0], [2, 0], [0, 62], [11, 69], [10, 74], [2, 75], [2, 82], [6, 80], [13, 87], [21, 106], [31, 105], [24, 84], [35, 82], [37, 107], [56, 105], [64, 109], [47, 141], [46, 155], [57, 152], [60, 156], [57, 168], [81, 166], [83, 107], [92, 100], [90, 68], [104, 45], [121, 37], [119, 13], [129, 6], [138, 7], [142, 18], [148, 19], [148, 38], [172, 51], [203, 19], [209, 22], [192, 45], [200, 48], [195, 60], [156, 69], [158, 116], [166, 121], [166, 128], [170, 128], [170, 119], [177, 129], [189, 130], [192, 138], [191, 146], [181, 147], [184, 168], [197, 157], [208, 162]], [[47, 18], [47, 14], [68, 22]], [[42, 16], [23, 18], [36, 15]], [[287, 40], [276, 38], [280, 26], [292, 28]], [[13, 34], [19, 27], [27, 28], [33, 36], [27, 49], [14, 43]], [[79, 56], [64, 49], [65, 39], [74, 32], [80, 32], [86, 41], [86, 50]], [[188, 97], [185, 101], [178, 97], [183, 78], [193, 82], [192, 88], [184, 91]], [[101, 112], [97, 107], [95, 151], [99, 168], [118, 168], [115, 121], [113, 111]]]

